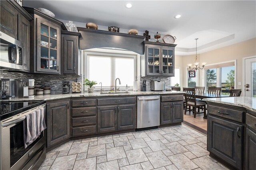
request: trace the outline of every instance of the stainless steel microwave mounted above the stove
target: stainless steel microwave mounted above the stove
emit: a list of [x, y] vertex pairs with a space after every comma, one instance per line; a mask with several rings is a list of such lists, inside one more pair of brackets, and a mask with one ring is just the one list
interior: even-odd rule
[[0, 66], [23, 70], [23, 43], [0, 31]]

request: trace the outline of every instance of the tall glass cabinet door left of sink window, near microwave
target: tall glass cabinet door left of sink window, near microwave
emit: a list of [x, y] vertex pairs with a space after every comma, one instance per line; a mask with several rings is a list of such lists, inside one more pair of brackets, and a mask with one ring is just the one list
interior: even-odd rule
[[37, 71], [59, 72], [60, 29], [37, 19]]

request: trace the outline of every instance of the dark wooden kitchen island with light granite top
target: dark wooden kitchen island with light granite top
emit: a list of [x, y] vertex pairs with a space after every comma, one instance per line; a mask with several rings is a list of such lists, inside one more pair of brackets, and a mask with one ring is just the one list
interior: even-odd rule
[[256, 167], [256, 98], [204, 99], [208, 107], [207, 150], [231, 169]]

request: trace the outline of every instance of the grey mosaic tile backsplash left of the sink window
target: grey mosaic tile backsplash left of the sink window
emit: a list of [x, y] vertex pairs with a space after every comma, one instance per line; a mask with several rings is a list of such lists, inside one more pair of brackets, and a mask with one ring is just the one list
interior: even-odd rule
[[[62, 86], [64, 81], [82, 82], [82, 76], [78, 75], [51, 75], [51, 74], [28, 74], [24, 72], [8, 72], [1, 70], [0, 78], [11, 79], [35, 79], [35, 85], [41, 84], [43, 87], [51, 87], [51, 94], [59, 94], [62, 92]], [[71, 86], [70, 86], [70, 92]]]

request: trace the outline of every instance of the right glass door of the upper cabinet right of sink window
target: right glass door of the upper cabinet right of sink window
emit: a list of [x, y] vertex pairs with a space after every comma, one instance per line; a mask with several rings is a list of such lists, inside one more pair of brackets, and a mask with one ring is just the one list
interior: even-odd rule
[[174, 56], [172, 49], [162, 49], [162, 75], [174, 75]]

